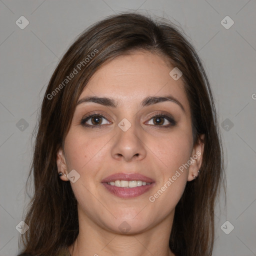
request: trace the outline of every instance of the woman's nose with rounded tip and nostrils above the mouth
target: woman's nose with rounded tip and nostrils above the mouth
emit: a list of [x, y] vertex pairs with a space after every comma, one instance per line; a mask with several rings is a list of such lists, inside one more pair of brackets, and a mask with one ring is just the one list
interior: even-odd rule
[[116, 135], [111, 149], [112, 157], [127, 162], [142, 160], [146, 156], [146, 145], [142, 133], [143, 130], [134, 124], [131, 124], [127, 130], [116, 126]]

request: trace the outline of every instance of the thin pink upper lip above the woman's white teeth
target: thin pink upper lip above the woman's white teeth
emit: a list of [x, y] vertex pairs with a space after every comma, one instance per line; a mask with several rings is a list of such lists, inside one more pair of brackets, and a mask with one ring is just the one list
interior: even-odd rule
[[141, 180], [147, 183], [154, 182], [153, 179], [139, 173], [122, 173], [122, 172], [114, 173], [110, 176], [107, 176], [104, 179], [102, 179], [101, 182], [111, 182], [115, 180], [128, 180], [128, 181]]

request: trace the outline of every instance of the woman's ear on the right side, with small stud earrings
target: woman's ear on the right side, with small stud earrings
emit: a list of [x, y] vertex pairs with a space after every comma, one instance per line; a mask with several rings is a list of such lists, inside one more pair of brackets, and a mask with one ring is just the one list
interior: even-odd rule
[[192, 150], [192, 154], [190, 157], [190, 161], [192, 163], [189, 165], [187, 181], [191, 181], [194, 179], [194, 176], [196, 178], [199, 175], [198, 170], [200, 169], [202, 163], [203, 147], [204, 134], [201, 134], [200, 138], [198, 138]]

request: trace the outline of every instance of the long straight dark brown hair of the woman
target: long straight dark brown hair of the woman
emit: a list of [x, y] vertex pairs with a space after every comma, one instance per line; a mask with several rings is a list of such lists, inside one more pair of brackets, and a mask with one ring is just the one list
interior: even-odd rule
[[[181, 79], [191, 109], [193, 141], [196, 143], [199, 134], [205, 134], [204, 151], [198, 178], [186, 183], [175, 207], [169, 247], [176, 256], [212, 254], [214, 205], [224, 172], [208, 79], [196, 51], [174, 24], [163, 18], [153, 20], [127, 12], [106, 17], [82, 32], [51, 76], [41, 106], [29, 172], [29, 176], [33, 173], [34, 195], [24, 219], [29, 229], [21, 236], [23, 252], [58, 255], [62, 248], [75, 241], [79, 231], [77, 201], [70, 182], [63, 182], [57, 175], [56, 154], [63, 145], [77, 99], [89, 78], [106, 61], [133, 50], [147, 50], [167, 57], [170, 64], [183, 73]], [[72, 78], [71, 73], [75, 73]]]

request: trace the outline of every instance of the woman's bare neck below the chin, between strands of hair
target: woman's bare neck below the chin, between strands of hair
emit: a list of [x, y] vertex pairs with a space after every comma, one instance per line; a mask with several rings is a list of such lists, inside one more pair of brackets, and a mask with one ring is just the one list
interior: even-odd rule
[[71, 256], [175, 256], [169, 249], [173, 214], [174, 212], [156, 226], [133, 234], [111, 232], [82, 215], [78, 217], [79, 234], [68, 247], [69, 252]]

